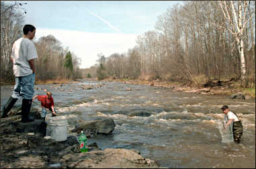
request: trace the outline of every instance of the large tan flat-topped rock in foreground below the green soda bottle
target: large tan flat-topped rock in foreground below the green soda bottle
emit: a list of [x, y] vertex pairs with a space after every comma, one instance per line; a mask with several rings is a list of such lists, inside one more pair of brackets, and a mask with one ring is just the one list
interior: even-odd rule
[[153, 160], [142, 158], [133, 150], [122, 148], [109, 148], [77, 156], [67, 154], [62, 157], [60, 163], [67, 168], [159, 168]]

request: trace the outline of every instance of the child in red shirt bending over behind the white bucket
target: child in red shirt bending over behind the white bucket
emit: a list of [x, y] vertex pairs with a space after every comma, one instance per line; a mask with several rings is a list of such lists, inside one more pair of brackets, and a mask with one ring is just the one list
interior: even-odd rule
[[44, 119], [44, 121], [46, 116], [46, 109], [50, 110], [50, 112], [52, 113], [52, 117], [56, 116], [52, 93], [48, 91], [46, 95], [36, 95], [35, 97], [33, 97], [32, 101], [34, 101], [34, 99], [36, 98], [38, 98], [38, 101], [41, 102], [41, 107], [42, 107], [41, 117]]

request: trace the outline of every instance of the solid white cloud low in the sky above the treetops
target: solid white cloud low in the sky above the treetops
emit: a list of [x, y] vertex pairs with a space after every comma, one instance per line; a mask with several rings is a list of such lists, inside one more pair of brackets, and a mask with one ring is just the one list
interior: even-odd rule
[[36, 38], [52, 35], [69, 47], [81, 58], [80, 68], [89, 68], [96, 64], [97, 54], [102, 53], [105, 57], [114, 53], [127, 52], [128, 48], [136, 45], [136, 34], [101, 34], [91, 32], [79, 32], [71, 30], [36, 29]]

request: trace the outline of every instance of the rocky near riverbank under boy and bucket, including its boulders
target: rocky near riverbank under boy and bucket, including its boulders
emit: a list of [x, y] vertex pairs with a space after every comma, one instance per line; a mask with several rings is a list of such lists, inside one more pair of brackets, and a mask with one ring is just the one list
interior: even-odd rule
[[[68, 136], [63, 142], [48, 139], [43, 135], [44, 123], [38, 110], [32, 108], [30, 115], [36, 120], [21, 123], [21, 107], [15, 107], [8, 117], [1, 119], [1, 168], [160, 168], [136, 150], [101, 150], [93, 143], [88, 146], [89, 152], [81, 153], [75, 136]], [[111, 134], [113, 123], [111, 119], [103, 119], [101, 123], [92, 121], [91, 125], [81, 123], [74, 132], [86, 129], [88, 137], [93, 137], [88, 131]]]

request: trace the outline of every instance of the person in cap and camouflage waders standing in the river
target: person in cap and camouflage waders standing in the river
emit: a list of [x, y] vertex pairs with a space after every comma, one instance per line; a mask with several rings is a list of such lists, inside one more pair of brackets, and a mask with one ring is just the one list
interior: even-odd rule
[[242, 125], [241, 119], [239, 119], [236, 113], [230, 111], [227, 105], [223, 105], [221, 109], [222, 109], [222, 112], [225, 114], [224, 120], [227, 121], [227, 123], [224, 125], [224, 129], [226, 129], [228, 125], [233, 123], [232, 132], [233, 132], [234, 142], [239, 144], [240, 139], [243, 135], [243, 125]]

